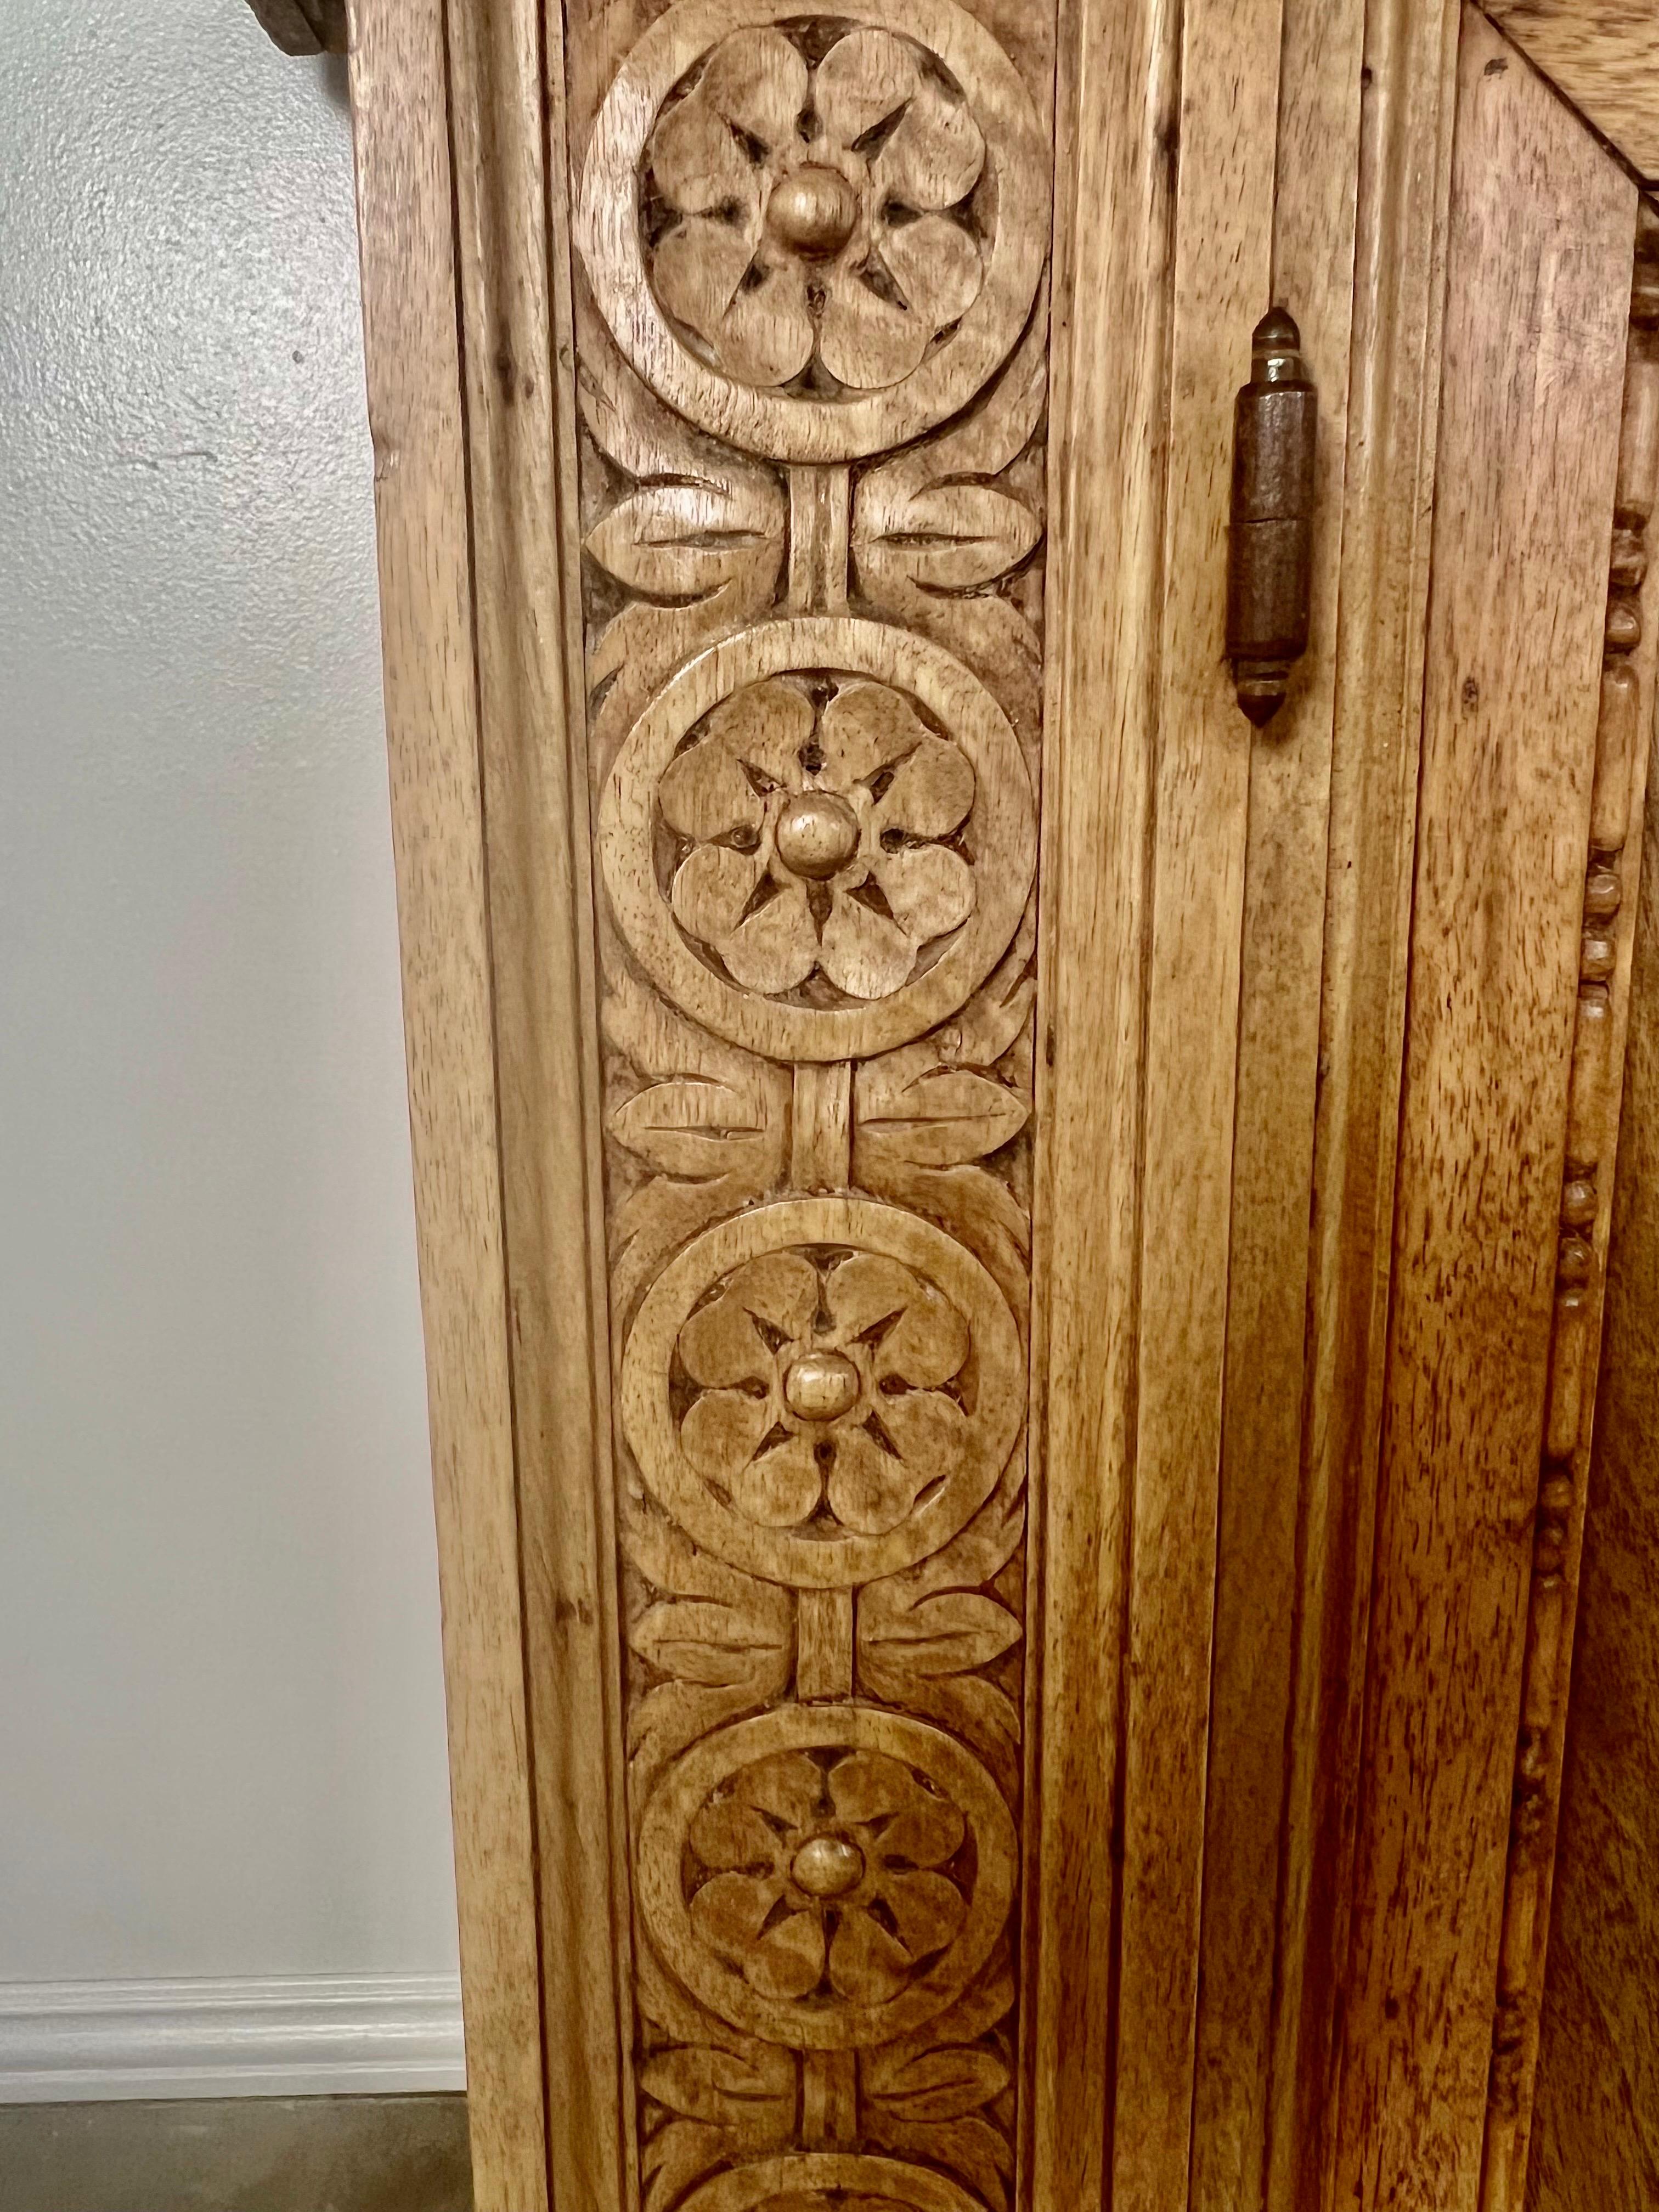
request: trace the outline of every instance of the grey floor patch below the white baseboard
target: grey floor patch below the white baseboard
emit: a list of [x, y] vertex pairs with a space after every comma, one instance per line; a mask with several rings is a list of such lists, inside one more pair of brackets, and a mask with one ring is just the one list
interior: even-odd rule
[[0, 2106], [0, 2212], [471, 2212], [465, 2097]]

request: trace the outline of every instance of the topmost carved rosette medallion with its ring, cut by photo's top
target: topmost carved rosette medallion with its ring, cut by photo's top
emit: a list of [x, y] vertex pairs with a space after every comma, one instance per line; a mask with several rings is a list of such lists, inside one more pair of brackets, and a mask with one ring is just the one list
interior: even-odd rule
[[1048, 148], [956, 0], [681, 0], [599, 108], [577, 246], [630, 367], [690, 422], [854, 460], [956, 414], [1013, 349]]

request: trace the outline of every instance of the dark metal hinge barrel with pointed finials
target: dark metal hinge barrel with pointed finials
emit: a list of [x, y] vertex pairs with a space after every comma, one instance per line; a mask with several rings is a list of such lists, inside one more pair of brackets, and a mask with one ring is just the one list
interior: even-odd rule
[[1232, 407], [1228, 659], [1256, 728], [1285, 703], [1290, 670], [1307, 650], [1318, 394], [1301, 343], [1283, 307], [1265, 314], [1250, 336], [1250, 383]]

